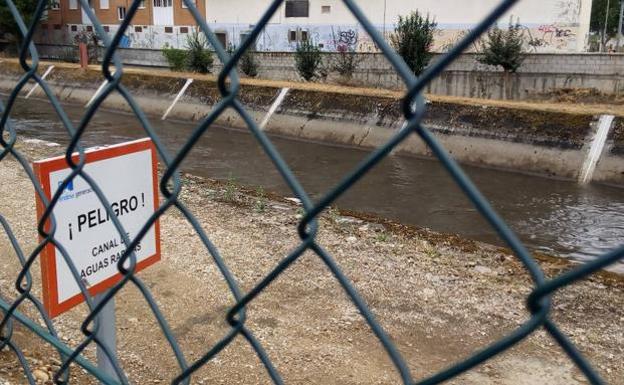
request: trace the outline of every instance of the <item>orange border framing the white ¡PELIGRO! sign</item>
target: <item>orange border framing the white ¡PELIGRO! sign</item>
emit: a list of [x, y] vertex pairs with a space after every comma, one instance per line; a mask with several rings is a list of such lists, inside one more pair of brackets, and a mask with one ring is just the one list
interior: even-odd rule
[[[123, 155], [133, 154], [136, 152], [142, 152], [150, 150], [152, 155], [152, 176], [154, 186], [154, 211], [159, 207], [158, 196], [158, 158], [156, 155], [156, 147], [151, 139], [139, 139], [132, 142], [121, 143], [109, 147], [94, 148], [85, 151], [85, 164], [93, 163], [101, 160], [116, 158]], [[78, 154], [73, 154], [72, 159], [75, 162], [79, 161]], [[45, 159], [37, 162], [33, 162], [33, 171], [39, 179], [39, 183], [43, 188], [48, 200], [52, 199], [52, 190], [50, 186], [50, 173], [68, 168], [68, 164], [65, 161], [65, 156], [58, 156], [55, 158]], [[41, 221], [45, 208], [39, 196], [35, 193], [35, 199], [37, 202], [37, 223]], [[136, 265], [136, 271], [145, 269], [148, 266], [160, 261], [161, 249], [160, 249], [160, 220], [157, 219], [154, 222], [154, 231], [156, 239], [156, 252], [138, 262]], [[45, 231], [48, 232], [50, 228], [49, 221], [45, 223]], [[39, 236], [41, 242], [43, 237]], [[82, 293], [59, 303], [58, 300], [58, 287], [56, 284], [56, 247], [52, 243], [48, 243], [41, 251], [41, 277], [43, 288], [43, 306], [48, 312], [48, 315], [53, 318], [56, 317], [71, 308], [79, 305], [84, 301]], [[91, 286], [88, 288], [89, 294], [92, 296], [102, 293], [107, 289], [113, 287], [119, 282], [123, 276], [117, 272], [115, 275]]]

